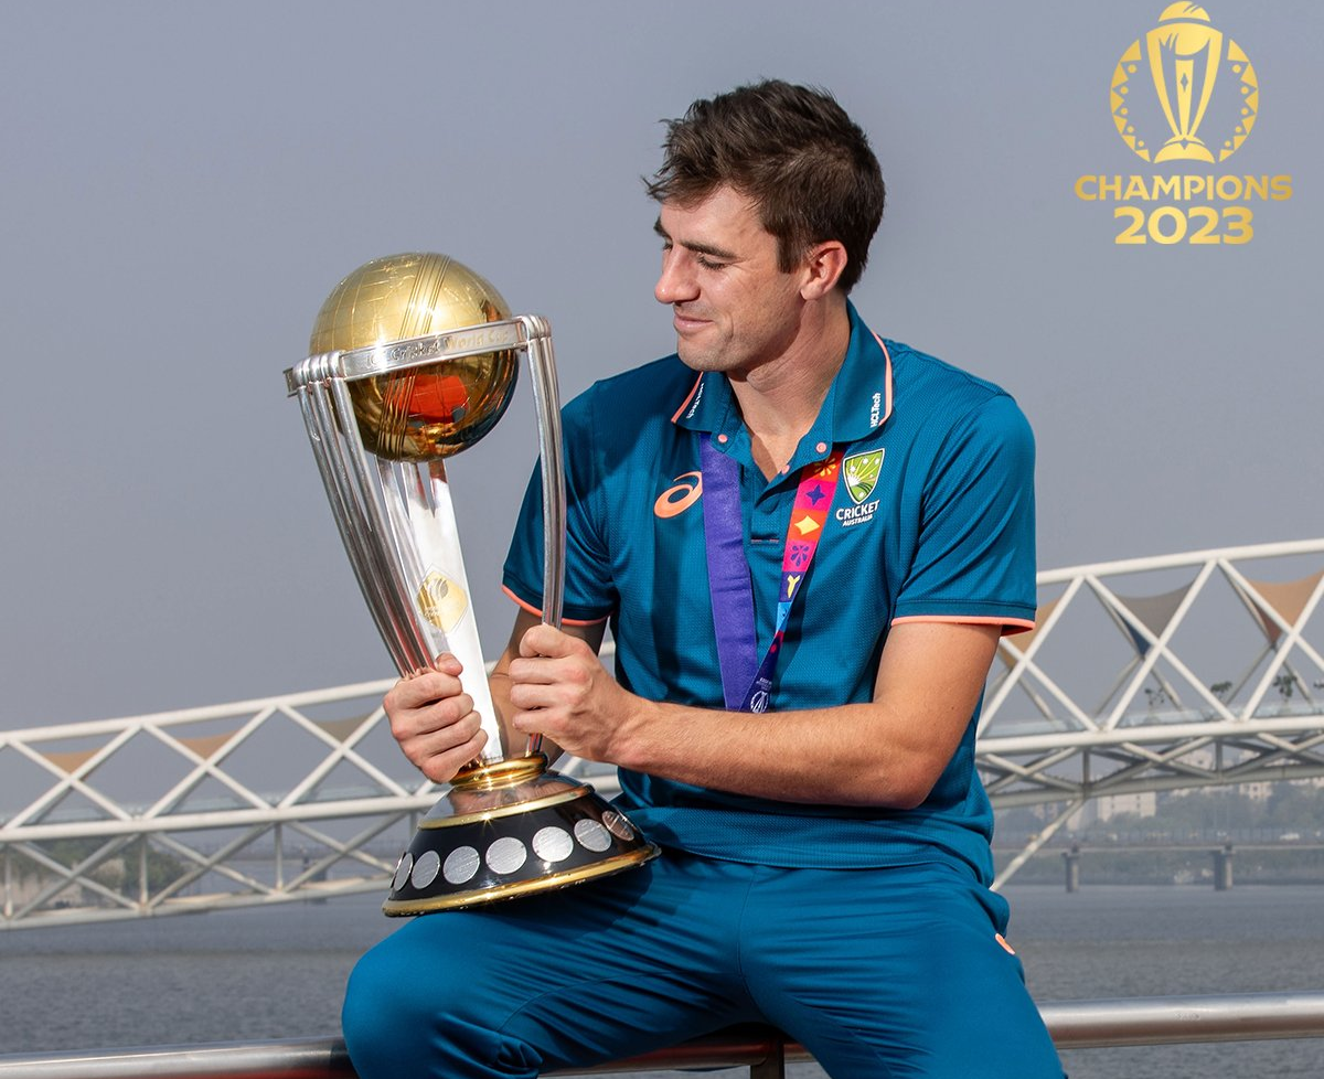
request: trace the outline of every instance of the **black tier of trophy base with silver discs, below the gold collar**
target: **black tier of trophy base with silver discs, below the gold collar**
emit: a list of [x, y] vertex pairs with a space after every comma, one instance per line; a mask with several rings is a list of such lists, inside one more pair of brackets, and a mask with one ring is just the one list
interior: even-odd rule
[[422, 826], [400, 857], [392, 916], [475, 907], [565, 888], [642, 865], [658, 849], [592, 786], [527, 802], [519, 813]]

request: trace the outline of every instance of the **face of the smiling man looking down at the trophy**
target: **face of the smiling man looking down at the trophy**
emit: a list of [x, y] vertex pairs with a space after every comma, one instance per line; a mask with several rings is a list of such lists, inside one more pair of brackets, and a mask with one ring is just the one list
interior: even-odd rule
[[801, 270], [777, 267], [777, 240], [752, 203], [722, 187], [700, 203], [663, 203], [662, 275], [677, 352], [695, 371], [748, 375], [792, 344], [804, 301]]

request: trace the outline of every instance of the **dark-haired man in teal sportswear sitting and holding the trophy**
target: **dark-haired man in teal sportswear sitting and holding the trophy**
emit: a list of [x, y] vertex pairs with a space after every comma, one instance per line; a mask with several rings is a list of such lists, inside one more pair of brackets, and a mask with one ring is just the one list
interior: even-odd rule
[[[677, 355], [567, 406], [565, 628], [538, 624], [535, 477], [493, 675], [511, 744], [618, 765], [663, 855], [405, 925], [351, 978], [351, 1056], [531, 1076], [761, 1019], [838, 1079], [1061, 1076], [973, 768], [998, 635], [1034, 618], [1029, 428], [847, 302], [883, 181], [828, 94], [696, 102], [665, 150]], [[385, 702], [436, 781], [483, 747], [458, 674]]]

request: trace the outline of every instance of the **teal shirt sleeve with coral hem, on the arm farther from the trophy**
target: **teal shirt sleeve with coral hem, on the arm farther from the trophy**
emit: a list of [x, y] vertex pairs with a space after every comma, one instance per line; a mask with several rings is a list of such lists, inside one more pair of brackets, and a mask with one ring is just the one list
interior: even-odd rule
[[996, 395], [939, 447], [892, 624], [1033, 629], [1034, 575], [1034, 434], [1016, 401]]

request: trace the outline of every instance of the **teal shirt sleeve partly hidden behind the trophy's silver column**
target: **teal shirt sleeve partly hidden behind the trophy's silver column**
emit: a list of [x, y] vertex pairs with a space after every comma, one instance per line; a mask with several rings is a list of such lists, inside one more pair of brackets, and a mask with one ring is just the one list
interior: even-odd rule
[[[606, 502], [593, 438], [593, 391], [561, 410], [565, 462], [565, 604], [571, 625], [601, 622], [617, 608], [605, 541]], [[506, 593], [526, 610], [543, 608], [543, 474], [542, 462], [524, 491], [502, 576]]]

